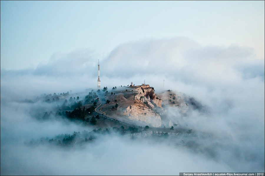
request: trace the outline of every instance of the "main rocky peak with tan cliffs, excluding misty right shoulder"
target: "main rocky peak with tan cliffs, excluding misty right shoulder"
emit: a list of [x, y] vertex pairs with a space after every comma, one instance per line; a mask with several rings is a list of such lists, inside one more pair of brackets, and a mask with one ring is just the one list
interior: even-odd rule
[[[100, 111], [111, 116], [117, 116], [123, 120], [142, 123], [153, 127], [161, 126], [160, 115], [153, 111], [155, 107], [161, 107], [162, 100], [155, 95], [153, 87], [149, 85], [130, 86], [123, 90], [113, 90], [107, 93], [106, 100], [110, 103], [102, 106]], [[115, 109], [113, 103], [117, 103]]]

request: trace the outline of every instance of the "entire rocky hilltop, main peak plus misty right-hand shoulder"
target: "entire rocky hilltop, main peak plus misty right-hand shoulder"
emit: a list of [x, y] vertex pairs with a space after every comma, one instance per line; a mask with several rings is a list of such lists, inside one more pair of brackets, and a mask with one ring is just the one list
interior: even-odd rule
[[148, 84], [113, 88], [111, 93], [104, 94], [108, 102], [101, 106], [102, 113], [139, 126], [176, 126], [189, 110], [203, 107], [193, 98], [170, 90], [157, 96]]

